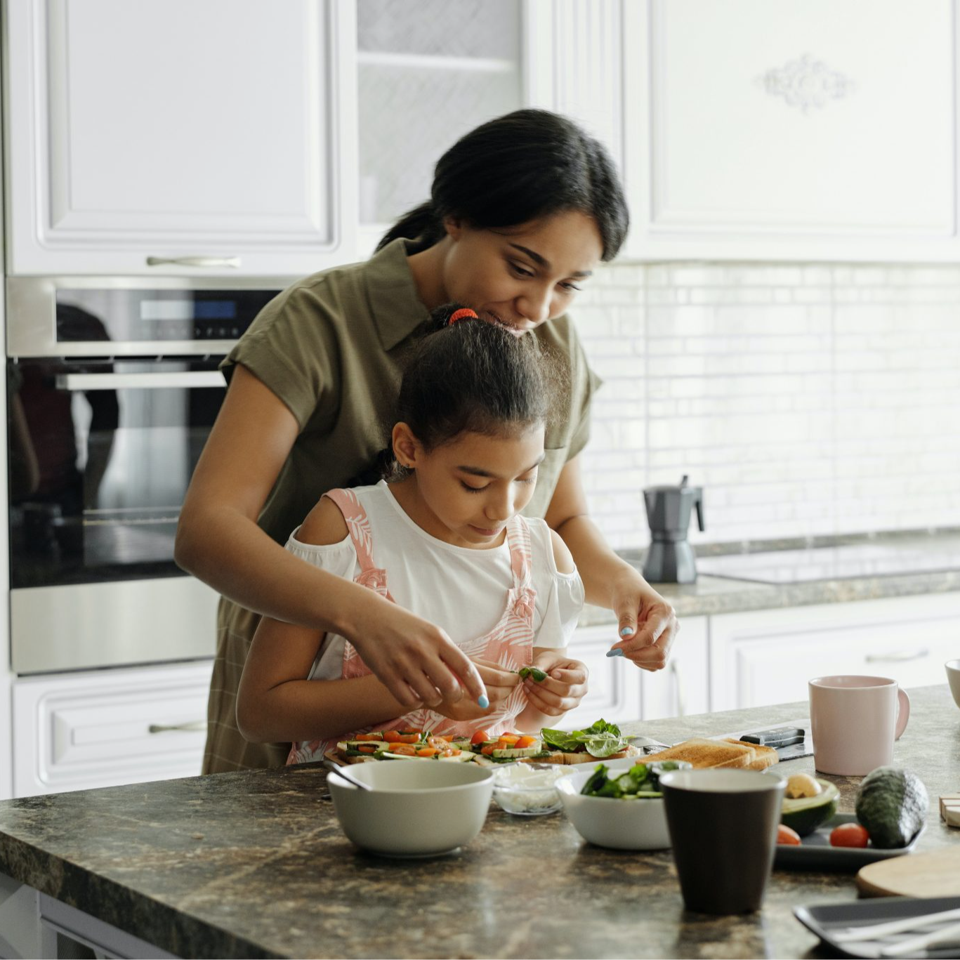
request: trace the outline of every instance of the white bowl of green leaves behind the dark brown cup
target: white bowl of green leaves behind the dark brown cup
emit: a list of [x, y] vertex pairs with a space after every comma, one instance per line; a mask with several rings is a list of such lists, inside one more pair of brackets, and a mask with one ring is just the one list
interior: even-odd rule
[[[607, 768], [622, 773], [635, 764], [636, 760], [613, 760], [607, 763]], [[615, 800], [612, 797], [585, 797], [580, 791], [592, 776], [596, 764], [584, 763], [583, 766], [584, 770], [560, 780], [557, 789], [570, 823], [585, 840], [613, 850], [666, 850], [670, 846], [662, 798]]]

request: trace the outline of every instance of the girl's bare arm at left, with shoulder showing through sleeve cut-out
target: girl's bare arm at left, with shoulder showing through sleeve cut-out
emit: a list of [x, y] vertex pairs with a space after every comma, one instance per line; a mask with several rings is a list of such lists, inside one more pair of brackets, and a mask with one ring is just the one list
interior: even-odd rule
[[[325, 497], [297, 535], [300, 542], [318, 544], [339, 543], [345, 537], [347, 523]], [[260, 621], [237, 693], [237, 726], [248, 740], [323, 740], [404, 712], [372, 675], [307, 680], [323, 640], [323, 632], [309, 627], [272, 617]]]

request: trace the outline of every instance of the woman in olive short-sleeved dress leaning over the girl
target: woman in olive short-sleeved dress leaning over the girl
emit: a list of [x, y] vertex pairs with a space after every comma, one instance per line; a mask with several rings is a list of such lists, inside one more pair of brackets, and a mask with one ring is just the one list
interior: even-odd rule
[[346, 637], [405, 708], [486, 700], [487, 667], [442, 630], [282, 546], [324, 491], [345, 486], [384, 446], [404, 357], [429, 311], [451, 300], [564, 357], [566, 416], [545, 438], [524, 513], [560, 534], [587, 601], [617, 614], [623, 639], [608, 656], [664, 665], [672, 609], [587, 516], [578, 455], [599, 381], [564, 317], [597, 264], [619, 250], [627, 220], [604, 148], [564, 117], [518, 110], [441, 157], [430, 202], [403, 217], [368, 262], [306, 277], [257, 317], [224, 362], [227, 397], [177, 536], [180, 566], [225, 597], [204, 772], [280, 766], [289, 751], [248, 743], [236, 726], [261, 614]]

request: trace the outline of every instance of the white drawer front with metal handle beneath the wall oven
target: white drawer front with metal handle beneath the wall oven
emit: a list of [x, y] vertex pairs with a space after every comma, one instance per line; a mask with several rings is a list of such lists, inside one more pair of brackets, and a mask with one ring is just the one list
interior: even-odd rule
[[212, 661], [13, 684], [13, 795], [199, 776]]

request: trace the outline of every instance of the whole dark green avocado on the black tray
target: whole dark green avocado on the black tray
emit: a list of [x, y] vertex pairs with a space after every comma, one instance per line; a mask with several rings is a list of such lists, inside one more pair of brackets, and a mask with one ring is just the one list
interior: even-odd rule
[[930, 798], [923, 781], [900, 767], [871, 770], [856, 793], [856, 819], [880, 850], [905, 847], [926, 822]]

